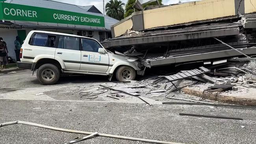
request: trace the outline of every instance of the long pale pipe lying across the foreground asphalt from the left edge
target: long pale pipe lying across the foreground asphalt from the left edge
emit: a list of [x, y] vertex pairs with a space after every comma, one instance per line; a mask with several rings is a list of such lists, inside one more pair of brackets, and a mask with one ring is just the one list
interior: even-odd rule
[[[42, 124], [37, 124], [37, 123], [32, 123], [32, 122], [24, 122], [24, 121], [14, 121], [14, 122], [7, 122], [7, 123], [2, 123], [0, 124], [0, 127], [2, 126], [9, 126], [13, 124], [24, 124], [24, 125], [29, 125], [29, 126], [36, 126], [36, 127], [42, 127], [46, 129], [52, 129], [56, 131], [65, 131], [69, 133], [81, 133], [85, 135], [91, 135], [93, 134], [92, 132], [87, 132], [87, 131], [76, 131], [76, 130], [71, 130], [71, 129], [63, 129], [59, 127], [52, 127], [52, 126], [45, 126]], [[125, 137], [125, 136], [120, 136], [120, 135], [109, 135], [109, 134], [104, 134], [104, 133], [97, 133], [96, 136], [101, 136], [101, 137], [111, 137], [111, 138], [120, 138], [120, 139], [125, 139], [125, 140], [135, 140], [135, 141], [141, 141], [141, 142], [150, 142], [150, 143], [156, 143], [156, 144], [182, 144], [182, 143], [176, 143], [176, 142], [164, 142], [160, 140], [149, 140], [149, 139], [144, 139], [144, 138], [135, 138], [135, 137]]]

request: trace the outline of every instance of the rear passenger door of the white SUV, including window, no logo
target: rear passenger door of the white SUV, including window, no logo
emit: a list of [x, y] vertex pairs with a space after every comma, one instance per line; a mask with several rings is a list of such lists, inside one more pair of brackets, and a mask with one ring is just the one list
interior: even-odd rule
[[63, 59], [66, 69], [79, 70], [81, 63], [80, 38], [59, 36], [55, 57]]

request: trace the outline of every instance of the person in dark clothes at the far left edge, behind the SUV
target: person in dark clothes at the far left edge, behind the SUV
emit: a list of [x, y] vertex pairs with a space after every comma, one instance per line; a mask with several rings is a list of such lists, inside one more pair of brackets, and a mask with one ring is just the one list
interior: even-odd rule
[[7, 54], [7, 46], [6, 46], [6, 42], [3, 41], [3, 38], [0, 37], [0, 62], [1, 62], [1, 65], [0, 65], [0, 68], [6, 68], [6, 63], [7, 63], [7, 57], [6, 57], [6, 54]]

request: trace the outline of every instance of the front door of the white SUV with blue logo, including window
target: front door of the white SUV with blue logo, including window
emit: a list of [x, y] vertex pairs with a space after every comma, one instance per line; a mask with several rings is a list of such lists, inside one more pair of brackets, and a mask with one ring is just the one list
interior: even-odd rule
[[80, 70], [105, 73], [109, 66], [108, 54], [98, 52], [102, 46], [93, 39], [82, 39]]

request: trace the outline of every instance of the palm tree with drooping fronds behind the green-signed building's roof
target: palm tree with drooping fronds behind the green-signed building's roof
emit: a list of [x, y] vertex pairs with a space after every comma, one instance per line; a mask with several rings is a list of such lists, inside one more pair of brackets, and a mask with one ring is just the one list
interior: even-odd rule
[[120, 0], [110, 0], [106, 4], [106, 15], [117, 20], [124, 18], [124, 6], [125, 4]]

